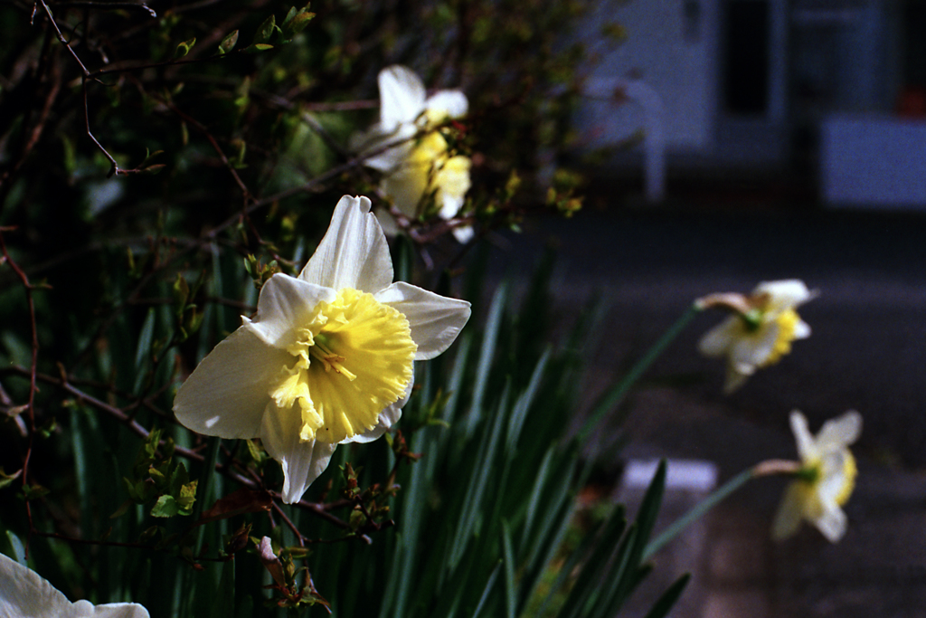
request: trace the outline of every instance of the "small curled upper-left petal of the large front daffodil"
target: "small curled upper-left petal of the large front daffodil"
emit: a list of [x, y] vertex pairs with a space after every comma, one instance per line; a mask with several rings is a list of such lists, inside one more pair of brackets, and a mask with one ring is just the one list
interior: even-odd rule
[[260, 289], [257, 315], [254, 320], [244, 318], [243, 328], [268, 345], [285, 349], [295, 343], [295, 329], [307, 324], [319, 302], [331, 302], [335, 296], [331, 287], [278, 272]]

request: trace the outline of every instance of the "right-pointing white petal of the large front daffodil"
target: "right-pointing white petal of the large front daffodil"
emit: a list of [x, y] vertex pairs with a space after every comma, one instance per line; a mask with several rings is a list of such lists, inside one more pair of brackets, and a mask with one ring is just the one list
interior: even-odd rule
[[440, 296], [405, 282], [395, 282], [373, 296], [405, 315], [411, 327], [411, 338], [418, 345], [416, 360], [433, 359], [443, 352], [469, 320], [469, 302]]

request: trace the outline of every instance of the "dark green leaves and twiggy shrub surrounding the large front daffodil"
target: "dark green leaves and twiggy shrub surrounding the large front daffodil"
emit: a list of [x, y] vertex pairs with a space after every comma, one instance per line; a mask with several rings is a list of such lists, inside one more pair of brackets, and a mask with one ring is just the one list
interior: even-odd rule
[[[347, 144], [383, 67], [469, 95], [447, 129], [474, 161], [465, 215], [491, 229], [554, 208], [535, 172], [568, 143], [582, 53], [559, 43], [580, 3], [154, 8], [40, 1], [31, 25], [31, 4], [0, 6], [0, 550], [21, 560], [28, 541], [70, 598], [156, 617], [521, 616], [557, 564], [551, 615], [613, 615], [645, 573], [661, 486], [561, 566], [593, 465], [567, 438], [591, 327], [550, 342], [552, 257], [517, 309], [505, 285], [483, 298], [469, 262], [473, 321], [419, 366], [399, 431], [339, 448], [308, 504], [282, 506], [257, 442], [171, 412], [261, 284], [302, 268], [340, 195], [382, 203]], [[422, 249], [435, 271], [466, 263], [441, 231], [413, 222], [397, 277], [429, 276]]]

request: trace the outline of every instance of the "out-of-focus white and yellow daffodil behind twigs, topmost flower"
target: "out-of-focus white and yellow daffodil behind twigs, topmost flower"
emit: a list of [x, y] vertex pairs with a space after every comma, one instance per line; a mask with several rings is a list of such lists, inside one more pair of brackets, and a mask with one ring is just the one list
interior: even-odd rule
[[[433, 129], [447, 119], [466, 115], [466, 95], [442, 90], [428, 97], [419, 76], [401, 65], [382, 69], [378, 82], [380, 121], [353, 141], [354, 149], [365, 156], [395, 144], [364, 161], [382, 171], [382, 195], [408, 219], [417, 218], [430, 197], [441, 218], [453, 219], [469, 191], [471, 163], [469, 157], [451, 156], [444, 135]], [[389, 222], [385, 226], [394, 228]], [[472, 237], [472, 228], [459, 226], [454, 234], [465, 243]]]

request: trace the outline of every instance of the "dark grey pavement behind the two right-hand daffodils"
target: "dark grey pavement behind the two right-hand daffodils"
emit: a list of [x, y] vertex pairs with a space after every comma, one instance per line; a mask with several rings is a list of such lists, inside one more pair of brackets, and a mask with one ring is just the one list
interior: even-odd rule
[[593, 210], [506, 235], [499, 271], [530, 270], [548, 243], [558, 247], [563, 319], [593, 292], [609, 307], [589, 400], [697, 296], [793, 277], [820, 292], [800, 310], [810, 338], [732, 397], [721, 393], [722, 362], [695, 351], [721, 316], [699, 316], [632, 395], [623, 427], [630, 447], [616, 464], [628, 456], [710, 460], [723, 482], [759, 460], [795, 456], [790, 410], [803, 410], [814, 431], [849, 409], [865, 419], [843, 541], [830, 545], [805, 529], [773, 544], [784, 484], [754, 482], [693, 533], [703, 550], [684, 560], [671, 546], [657, 555], [673, 571], [669, 581], [694, 571], [696, 592], [677, 615], [926, 616], [926, 216]]

